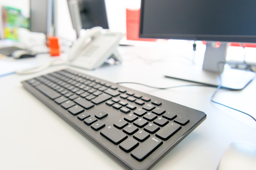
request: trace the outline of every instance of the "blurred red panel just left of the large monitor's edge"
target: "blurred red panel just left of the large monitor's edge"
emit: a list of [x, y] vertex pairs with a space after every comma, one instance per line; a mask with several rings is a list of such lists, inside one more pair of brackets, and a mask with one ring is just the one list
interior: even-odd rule
[[126, 9], [126, 32], [128, 40], [139, 41], [156, 41], [156, 39], [141, 39], [139, 38], [140, 29], [140, 9], [129, 10]]

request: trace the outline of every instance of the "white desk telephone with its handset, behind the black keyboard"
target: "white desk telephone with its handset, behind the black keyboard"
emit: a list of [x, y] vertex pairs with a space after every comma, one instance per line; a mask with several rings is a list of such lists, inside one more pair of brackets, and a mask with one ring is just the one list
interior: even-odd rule
[[108, 58], [122, 61], [116, 50], [123, 34], [120, 32], [101, 33], [102, 27], [93, 27], [79, 37], [68, 53], [70, 65], [88, 70], [100, 67]]

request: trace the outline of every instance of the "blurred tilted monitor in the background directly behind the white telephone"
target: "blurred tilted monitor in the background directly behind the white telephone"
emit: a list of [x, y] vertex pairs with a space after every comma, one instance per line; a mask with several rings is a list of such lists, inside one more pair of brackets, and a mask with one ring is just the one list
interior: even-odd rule
[[77, 37], [81, 29], [90, 29], [95, 26], [108, 29], [104, 0], [68, 0], [68, 9]]

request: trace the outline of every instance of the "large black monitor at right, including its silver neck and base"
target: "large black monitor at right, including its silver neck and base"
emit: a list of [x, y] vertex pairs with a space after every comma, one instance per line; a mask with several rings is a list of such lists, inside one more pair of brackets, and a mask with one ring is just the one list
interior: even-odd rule
[[[183, 71], [176, 70], [166, 76], [217, 86], [220, 81], [214, 72], [223, 71], [224, 64], [218, 68], [218, 63], [225, 61], [226, 42], [256, 42], [255, 9], [256, 1], [141, 0], [139, 37], [207, 41], [203, 70], [192, 66], [190, 70], [186, 68], [187, 72], [181, 68]], [[221, 41], [220, 48], [212, 47], [212, 41]], [[238, 75], [234, 69], [232, 73], [228, 72]], [[227, 80], [230, 76], [224, 70], [223, 86], [242, 89], [255, 76], [245, 71], [239, 75], [242, 79], [246, 77], [244, 83], [242, 80]]]

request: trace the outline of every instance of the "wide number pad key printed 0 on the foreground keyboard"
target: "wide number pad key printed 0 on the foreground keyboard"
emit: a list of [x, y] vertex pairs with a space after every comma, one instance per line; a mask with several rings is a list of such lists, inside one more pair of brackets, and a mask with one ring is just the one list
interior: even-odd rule
[[114, 126], [108, 126], [104, 128], [100, 131], [100, 134], [115, 145], [120, 144], [127, 138], [127, 135], [125, 133], [119, 131]]

